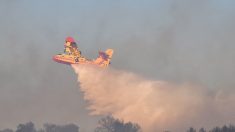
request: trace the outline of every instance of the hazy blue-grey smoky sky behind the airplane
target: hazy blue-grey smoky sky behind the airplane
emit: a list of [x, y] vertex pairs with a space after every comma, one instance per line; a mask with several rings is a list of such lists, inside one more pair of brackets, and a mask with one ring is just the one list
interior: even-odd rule
[[234, 95], [235, 1], [1, 0], [0, 129], [89, 116], [69, 66], [52, 61], [73, 36], [84, 56], [115, 50], [112, 67]]

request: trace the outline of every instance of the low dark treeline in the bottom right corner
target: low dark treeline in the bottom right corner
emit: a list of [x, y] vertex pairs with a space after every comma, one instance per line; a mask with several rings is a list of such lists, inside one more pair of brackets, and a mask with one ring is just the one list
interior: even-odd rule
[[205, 128], [200, 128], [198, 131], [193, 128], [193, 127], [190, 127], [187, 132], [235, 132], [235, 126], [234, 125], [224, 125], [222, 127], [214, 127], [212, 128], [211, 130], [206, 130]]

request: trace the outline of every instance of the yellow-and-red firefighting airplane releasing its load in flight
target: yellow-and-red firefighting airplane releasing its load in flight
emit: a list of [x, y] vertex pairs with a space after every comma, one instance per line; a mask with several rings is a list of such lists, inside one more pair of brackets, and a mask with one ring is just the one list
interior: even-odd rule
[[95, 60], [86, 59], [81, 55], [81, 51], [78, 50], [72, 37], [66, 38], [64, 46], [64, 53], [53, 57], [54, 61], [62, 64], [93, 64], [99, 67], [108, 67], [113, 55], [113, 49], [107, 49], [105, 52], [99, 52], [99, 56]]

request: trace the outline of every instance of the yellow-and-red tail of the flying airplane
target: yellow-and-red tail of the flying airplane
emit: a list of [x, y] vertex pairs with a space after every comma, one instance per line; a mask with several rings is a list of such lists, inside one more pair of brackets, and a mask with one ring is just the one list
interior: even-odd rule
[[113, 49], [107, 49], [105, 52], [99, 52], [99, 57], [95, 60], [95, 64], [101, 67], [107, 67], [113, 56]]

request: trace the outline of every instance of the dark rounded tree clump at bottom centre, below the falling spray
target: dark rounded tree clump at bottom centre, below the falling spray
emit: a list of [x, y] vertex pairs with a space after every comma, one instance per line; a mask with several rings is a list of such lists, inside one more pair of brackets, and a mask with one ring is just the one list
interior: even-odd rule
[[99, 120], [95, 132], [141, 132], [141, 128], [138, 124], [124, 123], [112, 116], [107, 116]]

